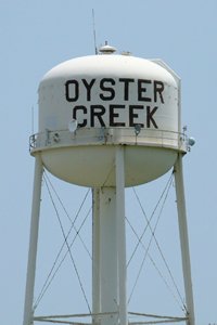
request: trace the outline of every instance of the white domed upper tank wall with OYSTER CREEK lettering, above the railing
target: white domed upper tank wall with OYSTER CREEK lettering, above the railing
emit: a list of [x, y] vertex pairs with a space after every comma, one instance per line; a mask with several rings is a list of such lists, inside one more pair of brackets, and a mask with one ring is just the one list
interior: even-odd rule
[[[73, 115], [78, 126], [87, 128], [117, 123], [130, 127], [136, 122], [177, 131], [177, 82], [157, 64], [126, 55], [84, 56], [62, 63], [43, 77], [39, 86], [39, 131], [67, 129]], [[101, 105], [100, 118], [93, 105]], [[130, 109], [130, 105], [139, 107]], [[155, 122], [150, 120], [150, 126], [146, 106], [151, 110], [157, 106]]]

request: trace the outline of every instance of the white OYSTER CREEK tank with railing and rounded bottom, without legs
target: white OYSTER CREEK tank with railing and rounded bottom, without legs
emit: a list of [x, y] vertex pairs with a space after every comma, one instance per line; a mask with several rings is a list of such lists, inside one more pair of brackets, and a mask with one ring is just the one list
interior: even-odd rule
[[58, 178], [115, 185], [115, 146], [125, 146], [125, 185], [168, 171], [180, 134], [179, 82], [163, 63], [107, 52], [66, 61], [39, 86], [39, 132], [31, 154]]

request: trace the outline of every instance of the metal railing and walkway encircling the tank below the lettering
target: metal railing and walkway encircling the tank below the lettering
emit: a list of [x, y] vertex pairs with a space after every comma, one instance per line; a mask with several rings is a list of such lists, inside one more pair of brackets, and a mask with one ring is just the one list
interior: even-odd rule
[[29, 139], [30, 153], [53, 147], [126, 144], [170, 147], [177, 151], [189, 150], [186, 133], [159, 129], [135, 128], [80, 128], [74, 132], [68, 130], [46, 130], [33, 134]]

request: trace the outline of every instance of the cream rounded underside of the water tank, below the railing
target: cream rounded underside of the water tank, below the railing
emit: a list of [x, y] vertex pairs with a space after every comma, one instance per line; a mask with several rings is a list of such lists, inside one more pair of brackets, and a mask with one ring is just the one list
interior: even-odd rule
[[[115, 145], [79, 146], [75, 151], [44, 151], [42, 156], [46, 168], [62, 180], [90, 187], [115, 186]], [[127, 147], [126, 186], [142, 184], [161, 177], [170, 169], [176, 157], [176, 152], [171, 150]]]

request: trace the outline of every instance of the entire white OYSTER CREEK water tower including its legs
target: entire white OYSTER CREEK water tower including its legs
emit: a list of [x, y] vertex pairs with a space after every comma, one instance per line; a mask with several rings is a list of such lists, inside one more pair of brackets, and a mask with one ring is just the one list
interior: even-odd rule
[[[186, 322], [194, 325], [182, 178], [189, 144], [180, 116], [180, 79], [168, 66], [115, 54], [107, 44], [99, 55], [69, 60], [43, 77], [39, 131], [30, 138], [36, 162], [24, 325], [36, 321], [33, 297], [43, 168], [61, 180], [93, 188], [92, 323], [126, 325], [125, 187], [155, 180], [173, 167]], [[106, 313], [117, 314], [117, 322], [103, 318]]]

